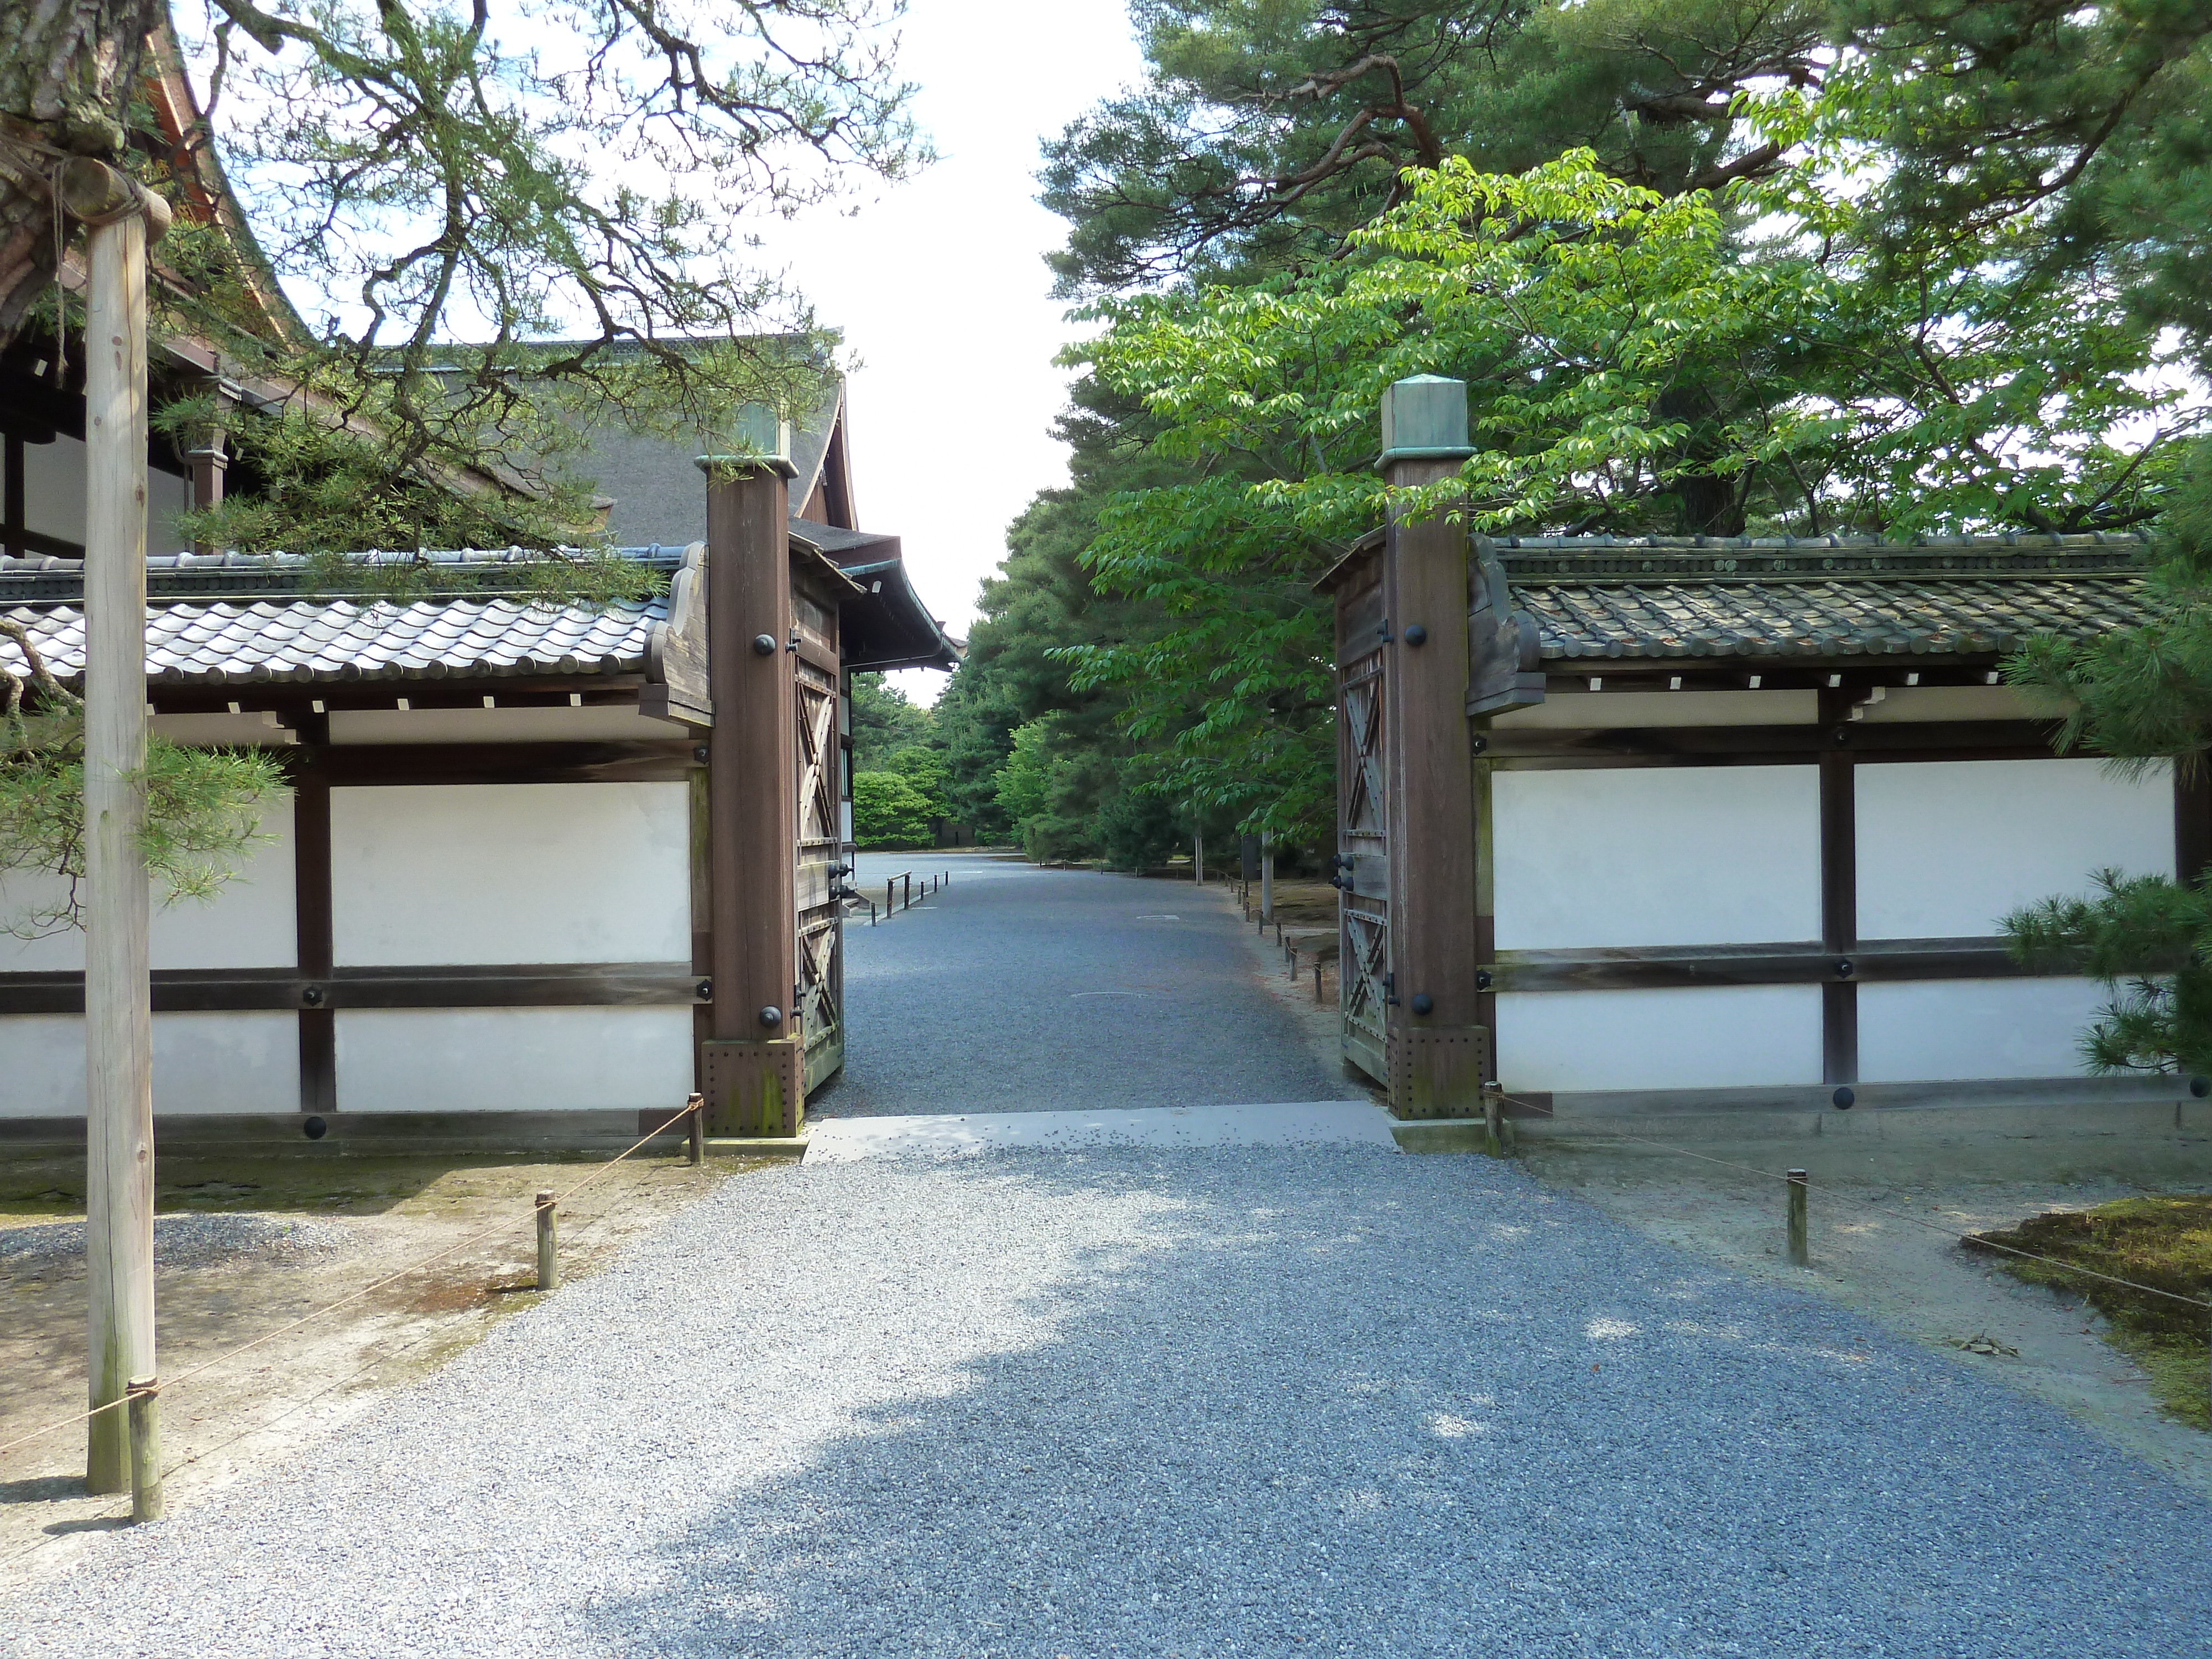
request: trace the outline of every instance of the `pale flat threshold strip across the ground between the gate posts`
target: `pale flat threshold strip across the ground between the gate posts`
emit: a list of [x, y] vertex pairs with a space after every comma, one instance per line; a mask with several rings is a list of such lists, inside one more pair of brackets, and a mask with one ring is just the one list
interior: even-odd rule
[[1095, 1113], [947, 1113], [929, 1117], [825, 1117], [810, 1126], [807, 1164], [880, 1157], [978, 1157], [1015, 1148], [1091, 1146], [1380, 1146], [1396, 1150], [1391, 1119], [1365, 1099], [1254, 1106], [1124, 1106]]

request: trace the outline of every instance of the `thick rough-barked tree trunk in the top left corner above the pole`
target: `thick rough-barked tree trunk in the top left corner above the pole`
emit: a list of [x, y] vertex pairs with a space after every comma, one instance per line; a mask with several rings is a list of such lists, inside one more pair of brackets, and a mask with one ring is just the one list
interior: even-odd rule
[[0, 7], [0, 347], [53, 281], [53, 164], [113, 161], [166, 0]]

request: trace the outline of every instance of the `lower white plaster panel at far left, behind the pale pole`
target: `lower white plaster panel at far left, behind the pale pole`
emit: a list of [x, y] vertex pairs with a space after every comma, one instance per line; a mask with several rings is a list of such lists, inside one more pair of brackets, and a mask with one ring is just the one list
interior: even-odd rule
[[[299, 1018], [290, 1013], [157, 1013], [157, 1113], [296, 1113]], [[0, 1018], [0, 1117], [84, 1117], [84, 1020]]]

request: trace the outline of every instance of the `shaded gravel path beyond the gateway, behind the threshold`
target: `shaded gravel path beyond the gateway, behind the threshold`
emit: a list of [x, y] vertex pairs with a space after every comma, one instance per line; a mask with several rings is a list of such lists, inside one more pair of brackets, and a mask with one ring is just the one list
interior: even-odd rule
[[810, 1115], [1363, 1095], [1252, 982], [1221, 889], [922, 852], [860, 854], [854, 887], [880, 902], [909, 867], [951, 869], [953, 885], [883, 927], [845, 927], [845, 1075]]

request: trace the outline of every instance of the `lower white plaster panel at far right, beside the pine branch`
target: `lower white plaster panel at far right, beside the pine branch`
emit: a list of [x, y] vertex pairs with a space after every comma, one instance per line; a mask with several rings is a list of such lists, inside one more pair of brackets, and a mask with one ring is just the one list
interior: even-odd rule
[[1858, 1075], [1869, 1084], [2079, 1077], [2093, 980], [1931, 980], [1858, 987]]

